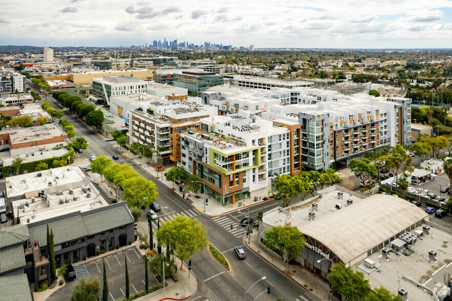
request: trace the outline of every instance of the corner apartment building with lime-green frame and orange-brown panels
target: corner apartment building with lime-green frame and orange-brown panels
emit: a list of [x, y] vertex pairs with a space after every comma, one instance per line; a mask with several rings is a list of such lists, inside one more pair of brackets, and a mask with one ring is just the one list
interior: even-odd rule
[[299, 128], [241, 114], [204, 118], [200, 130], [181, 133], [177, 164], [199, 175], [205, 193], [221, 203], [265, 196], [274, 174], [299, 174]]

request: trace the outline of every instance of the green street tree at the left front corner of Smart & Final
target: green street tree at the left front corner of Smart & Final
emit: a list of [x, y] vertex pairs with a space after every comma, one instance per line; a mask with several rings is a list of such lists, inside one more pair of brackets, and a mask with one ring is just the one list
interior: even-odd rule
[[295, 226], [278, 225], [265, 231], [265, 241], [268, 246], [276, 246], [285, 253], [286, 262], [289, 263], [295, 256], [301, 256], [306, 244], [305, 236]]

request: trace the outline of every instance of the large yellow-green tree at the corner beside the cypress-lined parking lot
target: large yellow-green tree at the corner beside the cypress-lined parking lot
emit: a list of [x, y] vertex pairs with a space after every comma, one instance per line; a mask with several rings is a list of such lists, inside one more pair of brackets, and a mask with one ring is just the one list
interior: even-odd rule
[[178, 216], [160, 227], [157, 241], [159, 244], [169, 241], [181, 261], [186, 261], [207, 246], [207, 228], [197, 219]]

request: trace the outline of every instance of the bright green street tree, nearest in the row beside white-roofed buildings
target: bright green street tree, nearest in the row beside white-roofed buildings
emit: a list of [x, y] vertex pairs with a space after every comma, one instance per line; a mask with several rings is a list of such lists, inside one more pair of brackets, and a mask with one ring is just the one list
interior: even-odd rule
[[124, 199], [129, 206], [146, 207], [154, 203], [159, 196], [156, 184], [143, 177], [135, 177], [122, 182]]

